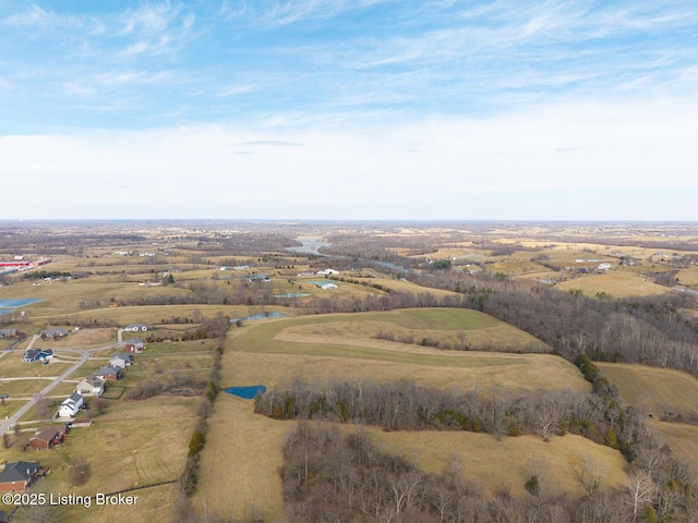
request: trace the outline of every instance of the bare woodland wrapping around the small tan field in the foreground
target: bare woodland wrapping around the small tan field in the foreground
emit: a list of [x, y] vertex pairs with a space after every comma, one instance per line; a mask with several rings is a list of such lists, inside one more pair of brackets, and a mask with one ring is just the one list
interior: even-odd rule
[[[594, 381], [590, 394], [539, 391], [517, 397], [496, 390], [485, 393], [442, 391], [414, 382], [376, 385], [366, 380], [353, 385], [329, 380], [309, 387], [300, 379], [288, 388], [267, 390], [255, 400], [257, 413], [278, 419], [300, 421], [285, 449], [287, 465], [282, 472], [291, 521], [330, 518], [333, 521], [386, 522], [635, 522], [646, 521], [639, 519], [642, 514], [659, 518], [647, 521], [690, 521], [682, 518], [689, 513], [698, 514], [698, 491], [686, 465], [647, 430], [635, 410], [622, 405], [614, 387], [594, 373], [593, 364], [586, 356], [580, 356], [577, 363], [587, 364], [582, 372]], [[542, 488], [545, 484], [544, 470], [534, 467], [530, 484], [527, 482], [527, 489], [534, 500], [508, 496], [485, 496], [483, 499], [481, 489], [480, 497], [459, 490], [465, 484], [453, 474], [444, 485], [445, 476], [428, 476], [395, 458], [382, 457], [375, 450], [371, 452], [377, 461], [371, 467], [377, 466], [378, 472], [352, 470], [357, 462], [361, 462], [360, 458], [351, 454], [356, 441], [349, 438], [341, 442], [334, 429], [311, 430], [310, 419], [374, 425], [386, 430], [472, 430], [490, 433], [497, 438], [538, 434], [549, 439], [554, 434], [569, 431], [618, 449], [630, 463], [630, 482], [627, 489], [614, 494], [616, 499], [612, 503], [609, 492], [599, 489], [601, 477], [598, 471], [583, 462], [576, 470], [576, 477], [585, 499], [573, 500], [559, 492], [553, 499], [549, 497], [550, 491]], [[362, 435], [360, 430], [357, 434]], [[300, 453], [297, 452], [299, 441], [303, 449]], [[327, 445], [333, 448], [325, 448]], [[347, 445], [349, 449], [345, 448]], [[363, 435], [361, 445], [369, 445]], [[333, 474], [347, 476], [333, 478], [327, 484], [327, 476]], [[373, 482], [369, 486], [352, 484], [365, 481], [365, 476]], [[449, 490], [456, 485], [460, 487]], [[336, 503], [341, 509], [327, 501], [333, 497], [337, 497]], [[369, 503], [371, 510], [359, 502], [366, 499], [373, 499]], [[622, 506], [618, 506], [618, 499], [623, 499]], [[419, 502], [412, 506], [411, 500]], [[507, 519], [501, 510], [512, 510], [510, 514], [519, 514], [516, 518], [530, 512], [534, 519]], [[579, 511], [586, 515], [580, 516]], [[352, 520], [346, 515], [348, 513], [358, 519]], [[465, 513], [471, 515], [465, 516]]]

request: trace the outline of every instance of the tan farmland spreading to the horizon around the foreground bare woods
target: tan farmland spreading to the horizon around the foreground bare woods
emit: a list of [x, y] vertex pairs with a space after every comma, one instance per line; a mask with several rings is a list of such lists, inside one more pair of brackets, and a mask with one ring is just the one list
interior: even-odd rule
[[[669, 323], [677, 318], [691, 318], [681, 324], [681, 336], [684, 346], [694, 343], [689, 329], [698, 308], [690, 299], [698, 291], [698, 268], [691, 256], [698, 259], [698, 250], [689, 248], [689, 231], [531, 224], [385, 226], [370, 234], [364, 226], [192, 231], [134, 228], [124, 231], [128, 240], [96, 234], [77, 248], [71, 239], [83, 234], [80, 228], [58, 229], [47, 244], [62, 234], [65, 243], [41, 270], [71, 277], [32, 279], [20, 272], [2, 279], [0, 300], [37, 301], [5, 302], [14, 308], [0, 316], [0, 328], [21, 333], [0, 340], [0, 393], [9, 397], [0, 417], [12, 416], [35, 394], [40, 400], [20, 418], [19, 429], [8, 431], [4, 460], [26, 459], [22, 449], [35, 428], [51, 422], [81, 378], [123, 350], [120, 339], [146, 342], [101, 403], [79, 414], [93, 418], [91, 427], [71, 430], [50, 452], [32, 454], [51, 469], [37, 489], [94, 495], [137, 487], [137, 509], [61, 507], [51, 512], [52, 521], [125, 516], [137, 523], [180, 521], [181, 514], [281, 520], [288, 507], [279, 470], [297, 423], [255, 414], [253, 401], [225, 392], [210, 403], [212, 380], [220, 388], [305, 387], [308, 393], [340, 382], [414, 384], [426, 391], [477, 392], [488, 401], [586, 398], [594, 392], [571, 363], [578, 351], [594, 354], [592, 348], [602, 346], [609, 352], [595, 354], [633, 362], [641, 345], [642, 357], [655, 357], [659, 365], [652, 346], [674, 342], [678, 335]], [[294, 238], [325, 239], [323, 255], [280, 246], [293, 245]], [[268, 275], [269, 281], [253, 282], [254, 275]], [[324, 290], [313, 283], [318, 281], [337, 287]], [[556, 300], [556, 308], [532, 307], [545, 296]], [[677, 305], [666, 305], [672, 300]], [[607, 323], [589, 328], [581, 313], [593, 307], [599, 314], [590, 318]], [[647, 316], [631, 316], [636, 311], [665, 315], [666, 332], [658, 333], [655, 324], [650, 328]], [[131, 323], [146, 324], [147, 332], [120, 331]], [[48, 327], [65, 329], [67, 336], [38, 336]], [[29, 346], [51, 350], [53, 358], [46, 365], [21, 362]], [[684, 372], [597, 364], [621, 398], [646, 414], [649, 429], [698, 470], [691, 459], [695, 427], [677, 419], [696, 412], [695, 378], [687, 374], [688, 350], [676, 354], [684, 360], [670, 363]], [[81, 357], [85, 363], [43, 397]], [[669, 413], [671, 423], [661, 419]], [[192, 434], [204, 425], [198, 483], [188, 498], [180, 482]], [[342, 423], [339, 429], [350, 437], [354, 427]], [[585, 499], [589, 484], [580, 477], [589, 471], [600, 477], [602, 492], [626, 492], [629, 481], [630, 465], [613, 440], [604, 443], [603, 434], [363, 429], [377, 452], [400, 457], [422, 474], [436, 477], [456, 460], [460, 481], [480, 485], [488, 499], [508, 492], [527, 507], [532, 474], [541, 474], [546, 492], [576, 500]], [[79, 458], [89, 473], [75, 484], [67, 464]], [[160, 499], [172, 508], [165, 515]]]

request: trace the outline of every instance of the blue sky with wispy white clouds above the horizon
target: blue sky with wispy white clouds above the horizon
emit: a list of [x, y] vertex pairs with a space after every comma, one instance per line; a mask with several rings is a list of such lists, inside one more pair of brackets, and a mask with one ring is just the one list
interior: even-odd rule
[[0, 0], [0, 220], [698, 220], [693, 0]]

